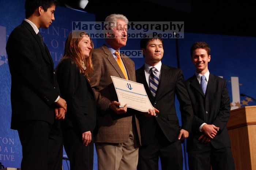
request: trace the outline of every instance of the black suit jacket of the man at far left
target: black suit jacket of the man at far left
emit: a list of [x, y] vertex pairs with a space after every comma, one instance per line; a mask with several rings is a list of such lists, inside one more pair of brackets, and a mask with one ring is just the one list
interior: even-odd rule
[[23, 21], [10, 34], [6, 51], [11, 73], [11, 128], [20, 121], [54, 122], [54, 101], [59, 86], [54, 75], [53, 61], [46, 45], [29, 23]]

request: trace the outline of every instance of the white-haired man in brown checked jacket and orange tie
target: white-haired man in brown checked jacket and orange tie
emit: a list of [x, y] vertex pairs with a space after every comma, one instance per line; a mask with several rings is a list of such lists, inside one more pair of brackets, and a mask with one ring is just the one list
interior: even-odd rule
[[[90, 75], [94, 89], [99, 132], [95, 137], [99, 170], [136, 170], [140, 146], [139, 122], [135, 110], [120, 108], [110, 76], [136, 81], [134, 62], [120, 55], [120, 47], [127, 42], [128, 19], [112, 14], [105, 19], [114, 26], [106, 30], [106, 43], [92, 55], [94, 73]], [[113, 38], [114, 37], [114, 38]], [[155, 115], [150, 110], [149, 114]]]

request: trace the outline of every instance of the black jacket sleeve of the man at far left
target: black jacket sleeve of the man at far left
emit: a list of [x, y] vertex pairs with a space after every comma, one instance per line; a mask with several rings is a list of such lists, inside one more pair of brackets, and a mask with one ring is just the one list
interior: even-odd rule
[[[42, 65], [37, 61], [35, 51], [31, 49], [34, 46], [29, 39], [31, 32], [22, 32], [16, 29], [12, 34], [13, 36], [9, 37], [9, 44], [7, 45], [7, 51], [14, 54], [12, 55], [12, 67], [18, 68], [16, 70], [19, 70], [19, 74], [27, 86], [30, 86], [42, 99], [47, 98], [44, 101], [48, 105], [52, 105], [59, 96], [59, 92], [42, 74]], [[18, 50], [12, 51], [14, 49]]]

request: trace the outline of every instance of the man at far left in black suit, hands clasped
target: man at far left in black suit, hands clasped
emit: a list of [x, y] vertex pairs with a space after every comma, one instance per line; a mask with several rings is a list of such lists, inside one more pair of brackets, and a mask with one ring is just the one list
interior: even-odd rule
[[[54, 20], [55, 0], [26, 0], [26, 19], [6, 46], [11, 73], [11, 128], [22, 144], [22, 170], [60, 170], [62, 136], [58, 126], [67, 105], [59, 95], [53, 61], [39, 28]], [[55, 111], [54, 111], [55, 110]]]

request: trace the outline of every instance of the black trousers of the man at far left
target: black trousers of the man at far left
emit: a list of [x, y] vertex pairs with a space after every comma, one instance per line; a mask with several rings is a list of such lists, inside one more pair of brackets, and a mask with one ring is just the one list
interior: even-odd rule
[[22, 145], [22, 170], [61, 170], [62, 132], [56, 124], [23, 121], [18, 128]]

